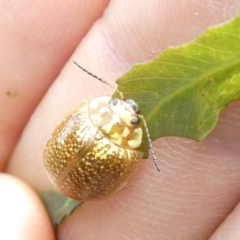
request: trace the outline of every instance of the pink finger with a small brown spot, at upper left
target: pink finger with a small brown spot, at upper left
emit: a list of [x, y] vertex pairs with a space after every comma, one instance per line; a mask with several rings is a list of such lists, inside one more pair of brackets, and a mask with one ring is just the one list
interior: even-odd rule
[[1, 1], [0, 170], [37, 104], [107, 4]]

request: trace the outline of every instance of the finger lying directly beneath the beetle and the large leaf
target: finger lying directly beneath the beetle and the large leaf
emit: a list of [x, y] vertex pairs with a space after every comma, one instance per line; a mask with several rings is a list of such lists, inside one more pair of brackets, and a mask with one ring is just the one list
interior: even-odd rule
[[[193, 40], [239, 11], [238, 1], [111, 1], [39, 104], [8, 171], [36, 189], [50, 186], [42, 153], [52, 129], [83, 99], [112, 93], [73, 60], [115, 82], [133, 64], [150, 60], [166, 46]], [[87, 202], [67, 217], [58, 238], [208, 239], [240, 195], [239, 104], [228, 105], [201, 143], [157, 140], [160, 174], [151, 161], [142, 161], [127, 187], [108, 199]]]

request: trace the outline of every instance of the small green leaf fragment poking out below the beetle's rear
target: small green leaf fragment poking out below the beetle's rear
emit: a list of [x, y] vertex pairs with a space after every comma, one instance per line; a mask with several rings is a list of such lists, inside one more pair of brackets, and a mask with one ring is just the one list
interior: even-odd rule
[[44, 189], [39, 195], [50, 215], [53, 225], [59, 224], [82, 202], [66, 197], [54, 188]]

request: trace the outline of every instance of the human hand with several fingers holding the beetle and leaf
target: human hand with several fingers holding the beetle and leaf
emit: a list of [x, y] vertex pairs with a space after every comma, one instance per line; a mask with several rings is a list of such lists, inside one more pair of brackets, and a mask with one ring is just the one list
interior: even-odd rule
[[[72, 60], [115, 82], [135, 63], [154, 58], [168, 46], [190, 41], [208, 26], [228, 20], [240, 11], [238, 1], [140, 0], [137, 4], [112, 1], [107, 6], [107, 1], [72, 0], [66, 5], [27, 4], [22, 1], [14, 9], [5, 5], [9, 10], [3, 12], [8, 18], [0, 21], [1, 28], [6, 30], [2, 44], [4, 58], [0, 60], [3, 69], [0, 84], [6, 93], [0, 97], [3, 126], [0, 156], [2, 169], [7, 162], [7, 173], [23, 179], [36, 190], [51, 186], [42, 154], [58, 121], [83, 99], [112, 94], [112, 89], [81, 72]], [[104, 15], [99, 18], [104, 9]], [[13, 17], [7, 25], [9, 16]], [[162, 172], [159, 174], [150, 160], [143, 160], [124, 189], [107, 199], [86, 202], [66, 218], [58, 228], [59, 239], [209, 238], [238, 204], [239, 104], [239, 101], [229, 104], [214, 131], [201, 143], [177, 137], [155, 141]], [[17, 141], [23, 127], [22, 137]], [[53, 238], [46, 213], [32, 190], [22, 183], [15, 184], [18, 180], [11, 177], [3, 175], [2, 178], [6, 179], [1, 182], [3, 186], [14, 182], [10, 185], [14, 187], [2, 188], [6, 199], [10, 197], [5, 192], [16, 189], [19, 195], [27, 196], [19, 209], [22, 204], [31, 207], [29, 214], [35, 212], [32, 209], [38, 209], [37, 217], [27, 215], [28, 224], [21, 226], [21, 233], [32, 239], [29, 229], [37, 227], [46, 234], [40, 239]], [[8, 200], [4, 208], [7, 203]], [[15, 211], [12, 218], [14, 214]], [[21, 214], [16, 219], [25, 219]], [[212, 239], [229, 239], [230, 233], [232, 239], [237, 239], [234, 236], [238, 228], [230, 226], [237, 226], [238, 216], [237, 207]], [[36, 222], [44, 224], [41, 229]], [[11, 226], [11, 229], [16, 228]], [[34, 239], [37, 239], [35, 235]]]

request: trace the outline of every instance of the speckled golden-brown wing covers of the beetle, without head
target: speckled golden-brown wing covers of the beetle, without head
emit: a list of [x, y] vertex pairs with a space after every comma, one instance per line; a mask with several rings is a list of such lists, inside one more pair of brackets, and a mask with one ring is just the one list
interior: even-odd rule
[[143, 153], [99, 136], [84, 100], [56, 127], [44, 151], [44, 164], [56, 188], [78, 200], [100, 199], [122, 188]]

